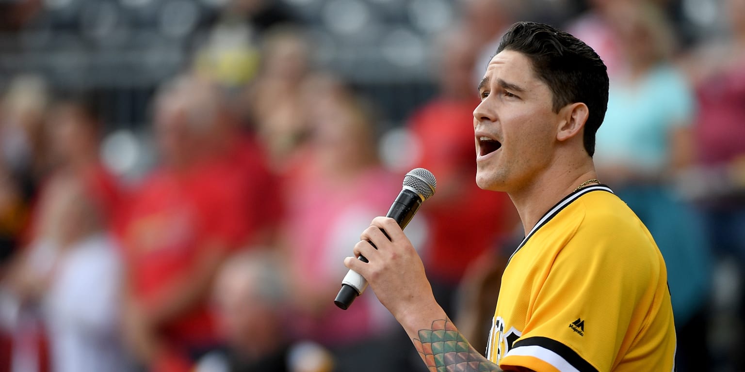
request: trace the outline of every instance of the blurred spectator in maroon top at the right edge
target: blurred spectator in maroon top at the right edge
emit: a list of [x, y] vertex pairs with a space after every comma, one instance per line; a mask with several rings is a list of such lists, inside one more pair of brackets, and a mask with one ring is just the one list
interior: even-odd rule
[[[696, 89], [696, 166], [680, 189], [700, 205], [715, 260], [714, 365], [745, 368], [745, 1], [723, 1], [726, 33], [691, 48], [684, 65]], [[732, 362], [737, 361], [737, 362]]]

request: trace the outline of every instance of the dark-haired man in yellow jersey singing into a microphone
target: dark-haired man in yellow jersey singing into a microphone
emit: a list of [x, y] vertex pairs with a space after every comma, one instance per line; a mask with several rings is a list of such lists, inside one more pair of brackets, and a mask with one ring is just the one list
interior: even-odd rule
[[395, 220], [377, 217], [361, 234], [354, 253], [369, 263], [344, 264], [368, 280], [430, 371], [674, 371], [662, 254], [592, 162], [608, 102], [603, 61], [568, 33], [519, 22], [478, 93], [476, 182], [510, 196], [525, 232], [504, 270], [486, 356], [434, 300]]

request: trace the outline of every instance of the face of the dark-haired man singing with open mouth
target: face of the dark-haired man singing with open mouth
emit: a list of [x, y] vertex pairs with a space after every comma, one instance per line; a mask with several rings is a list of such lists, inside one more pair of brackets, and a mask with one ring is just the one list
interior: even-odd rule
[[551, 90], [524, 54], [501, 51], [486, 67], [478, 92], [476, 183], [485, 190], [521, 190], [551, 165], [559, 120]]

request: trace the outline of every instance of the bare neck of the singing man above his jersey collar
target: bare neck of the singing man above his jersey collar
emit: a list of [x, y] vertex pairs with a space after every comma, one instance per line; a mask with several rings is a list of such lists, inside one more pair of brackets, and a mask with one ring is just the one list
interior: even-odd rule
[[592, 160], [572, 170], [548, 170], [531, 185], [508, 193], [520, 215], [525, 235], [549, 208], [591, 179], [597, 179]]

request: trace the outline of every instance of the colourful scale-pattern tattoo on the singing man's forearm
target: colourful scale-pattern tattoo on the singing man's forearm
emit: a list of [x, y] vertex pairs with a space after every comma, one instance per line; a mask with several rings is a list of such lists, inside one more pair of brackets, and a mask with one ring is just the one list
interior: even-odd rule
[[419, 330], [414, 347], [430, 372], [501, 371], [466, 341], [449, 319], [432, 322], [431, 330]]

